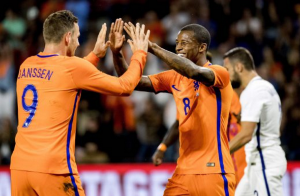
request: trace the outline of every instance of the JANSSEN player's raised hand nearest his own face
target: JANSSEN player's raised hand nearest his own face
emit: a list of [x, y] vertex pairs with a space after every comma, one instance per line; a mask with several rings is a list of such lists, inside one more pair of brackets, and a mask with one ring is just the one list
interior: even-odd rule
[[98, 34], [97, 41], [93, 49], [93, 53], [95, 53], [95, 55], [100, 59], [105, 56], [106, 50], [111, 44], [110, 41], [105, 42], [106, 31], [107, 31], [107, 27], [106, 24], [104, 23]]

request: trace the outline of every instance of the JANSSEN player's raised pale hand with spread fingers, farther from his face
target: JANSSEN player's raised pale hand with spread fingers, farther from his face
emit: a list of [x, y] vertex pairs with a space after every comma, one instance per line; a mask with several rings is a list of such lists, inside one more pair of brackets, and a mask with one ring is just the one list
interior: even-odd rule
[[[142, 25], [142, 28], [140, 28], [140, 24], [137, 23], [136, 27], [133, 28], [130, 26], [129, 28], [125, 27], [124, 30], [128, 33], [128, 35], [131, 37], [132, 40], [128, 39], [127, 42], [129, 43], [132, 52], [134, 53], [137, 50], [144, 50], [145, 52], [148, 51], [148, 41], [150, 36], [150, 31], [147, 31], [147, 34], [145, 35], [145, 25]], [[127, 24], [127, 26], [129, 26]]]

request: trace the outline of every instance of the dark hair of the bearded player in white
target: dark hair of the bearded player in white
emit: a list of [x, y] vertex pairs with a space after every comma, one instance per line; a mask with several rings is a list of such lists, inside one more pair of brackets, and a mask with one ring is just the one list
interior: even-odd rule
[[233, 48], [224, 54], [223, 59], [225, 58], [228, 58], [230, 61], [239, 61], [249, 71], [255, 69], [253, 57], [246, 48]]

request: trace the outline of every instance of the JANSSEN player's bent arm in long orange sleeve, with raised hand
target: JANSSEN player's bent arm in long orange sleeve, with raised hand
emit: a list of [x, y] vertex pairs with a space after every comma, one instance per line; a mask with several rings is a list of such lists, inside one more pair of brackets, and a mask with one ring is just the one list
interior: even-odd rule
[[[106, 26], [102, 28], [103, 32], [106, 33]], [[145, 26], [142, 26], [142, 29], [138, 27], [135, 31], [131, 29], [133, 41], [130, 40], [129, 45], [133, 56], [128, 70], [120, 78], [99, 71], [88, 61], [74, 58], [74, 60], [76, 59], [74, 61], [76, 66], [72, 69], [71, 74], [76, 87], [108, 95], [130, 95], [141, 79], [146, 64], [150, 32], [148, 31], [145, 36], [144, 30]], [[105, 33], [103, 33], [103, 38], [100, 39], [99, 45], [106, 45]]]

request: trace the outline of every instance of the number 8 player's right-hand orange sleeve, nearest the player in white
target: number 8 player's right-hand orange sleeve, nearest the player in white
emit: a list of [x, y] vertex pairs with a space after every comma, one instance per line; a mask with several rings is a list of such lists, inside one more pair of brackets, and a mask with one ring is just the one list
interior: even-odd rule
[[220, 65], [210, 65], [207, 66], [214, 74], [214, 83], [212, 86], [218, 87], [220, 89], [225, 88], [230, 82], [230, 76], [228, 71]]

